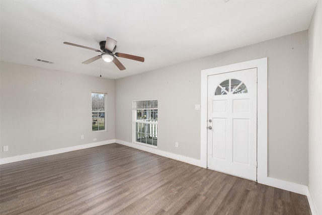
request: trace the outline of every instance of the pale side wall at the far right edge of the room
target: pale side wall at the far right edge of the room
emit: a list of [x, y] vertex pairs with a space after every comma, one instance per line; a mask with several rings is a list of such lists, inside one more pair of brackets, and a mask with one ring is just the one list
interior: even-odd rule
[[[316, 205], [316, 214], [322, 214], [322, 2], [314, 11], [309, 35], [309, 190]], [[312, 208], [311, 208], [312, 210]]]

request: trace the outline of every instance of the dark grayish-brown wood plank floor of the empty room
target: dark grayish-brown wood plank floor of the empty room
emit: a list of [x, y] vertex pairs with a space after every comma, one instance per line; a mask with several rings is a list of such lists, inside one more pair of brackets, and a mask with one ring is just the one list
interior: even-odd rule
[[310, 214], [306, 196], [110, 144], [0, 166], [0, 214]]

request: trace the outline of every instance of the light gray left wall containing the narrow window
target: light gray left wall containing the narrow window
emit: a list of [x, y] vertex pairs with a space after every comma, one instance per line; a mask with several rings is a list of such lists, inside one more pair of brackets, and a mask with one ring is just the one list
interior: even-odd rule
[[[114, 80], [7, 62], [0, 79], [1, 158], [115, 138]], [[92, 132], [92, 90], [108, 93], [107, 131]]]

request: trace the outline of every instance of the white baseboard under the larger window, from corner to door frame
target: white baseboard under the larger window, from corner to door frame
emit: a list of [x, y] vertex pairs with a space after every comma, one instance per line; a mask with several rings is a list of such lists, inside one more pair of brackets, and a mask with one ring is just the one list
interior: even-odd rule
[[142, 145], [139, 145], [139, 144], [133, 144], [132, 142], [127, 142], [127, 141], [123, 141], [123, 140], [120, 140], [120, 139], [116, 139], [115, 141], [116, 141], [117, 144], [121, 144], [121, 145], [124, 145], [124, 146], [127, 146], [127, 147], [142, 150], [142, 151], [149, 152], [149, 153], [152, 153], [152, 154], [156, 154], [156, 155], [159, 155], [159, 156], [163, 156], [163, 157], [166, 157], [166, 158], [171, 158], [171, 159], [174, 159], [174, 160], [177, 160], [177, 161], [182, 161], [182, 162], [185, 162], [185, 163], [188, 163], [188, 164], [192, 164], [194, 166], [198, 166], [198, 167], [202, 167], [202, 168], [207, 167], [207, 163], [202, 162], [202, 161], [200, 161], [198, 159], [189, 158], [189, 157], [186, 157], [186, 156], [183, 156], [183, 155], [178, 155], [178, 154], [174, 154], [174, 153], [170, 153], [170, 152], [161, 151], [161, 150], [151, 148], [151, 147], [148, 147], [148, 146], [142, 146]]

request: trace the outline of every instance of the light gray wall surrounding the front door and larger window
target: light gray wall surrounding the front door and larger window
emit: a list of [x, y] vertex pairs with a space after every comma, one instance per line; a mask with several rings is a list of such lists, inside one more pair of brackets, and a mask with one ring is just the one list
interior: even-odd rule
[[[269, 176], [308, 183], [307, 31], [118, 79], [116, 134], [132, 142], [132, 101], [159, 100], [158, 150], [200, 159], [202, 69], [268, 57]], [[175, 142], [179, 148], [175, 148]]]

